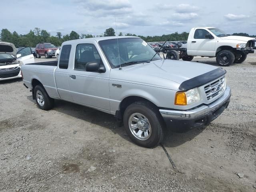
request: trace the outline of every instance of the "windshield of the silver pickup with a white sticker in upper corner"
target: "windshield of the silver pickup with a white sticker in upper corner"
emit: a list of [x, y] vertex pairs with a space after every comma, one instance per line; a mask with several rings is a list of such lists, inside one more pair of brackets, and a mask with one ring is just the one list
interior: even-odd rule
[[[121, 66], [150, 62], [156, 52], [141, 38], [119, 38], [99, 41], [112, 68]], [[118, 57], [118, 46], [120, 62]], [[158, 54], [152, 60], [162, 59]]]

